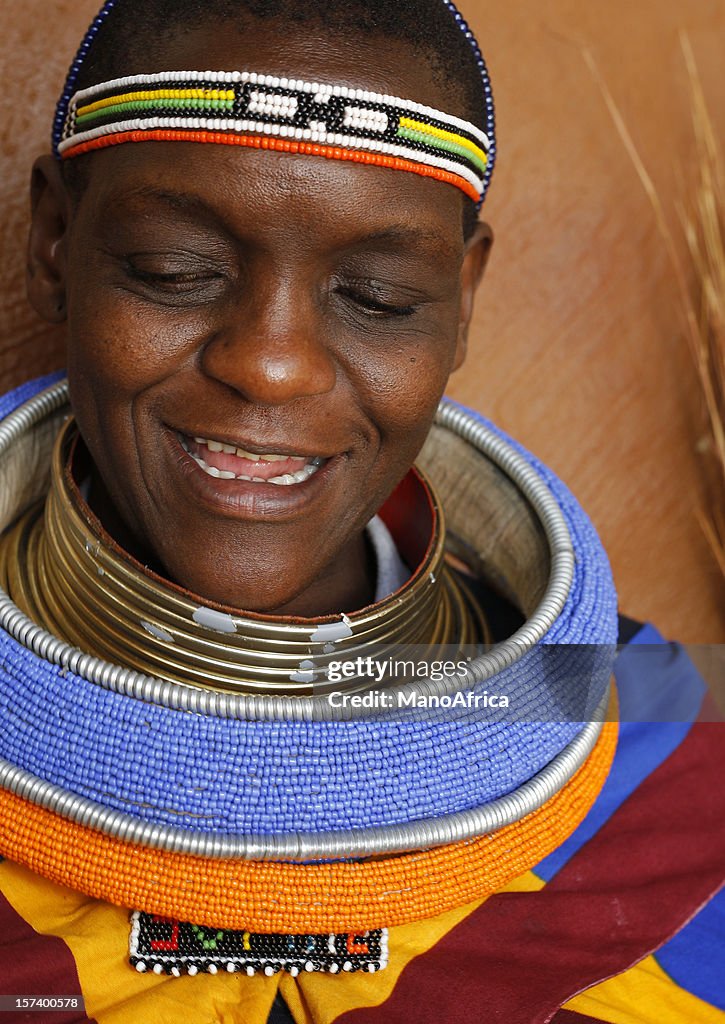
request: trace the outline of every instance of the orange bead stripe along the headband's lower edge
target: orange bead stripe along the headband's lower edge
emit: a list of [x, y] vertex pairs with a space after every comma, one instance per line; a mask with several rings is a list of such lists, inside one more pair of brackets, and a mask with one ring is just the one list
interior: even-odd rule
[[418, 164], [400, 157], [388, 157], [385, 154], [367, 153], [363, 150], [347, 150], [343, 146], [321, 145], [316, 142], [298, 142], [290, 139], [271, 138], [265, 135], [238, 135], [232, 132], [213, 131], [176, 131], [157, 129], [153, 131], [124, 131], [113, 135], [101, 135], [86, 142], [79, 142], [67, 148], [62, 159], [79, 157], [93, 150], [103, 150], [106, 146], [119, 145], [122, 142], [217, 142], [222, 145], [243, 145], [256, 150], [276, 150], [281, 153], [301, 154], [309, 157], [327, 157], [328, 160], [351, 160], [356, 164], [369, 164], [375, 167], [387, 167], [396, 171], [411, 171], [422, 177], [434, 178], [446, 184], [461, 188], [473, 202], [478, 201], [478, 191], [465, 178], [439, 167]]

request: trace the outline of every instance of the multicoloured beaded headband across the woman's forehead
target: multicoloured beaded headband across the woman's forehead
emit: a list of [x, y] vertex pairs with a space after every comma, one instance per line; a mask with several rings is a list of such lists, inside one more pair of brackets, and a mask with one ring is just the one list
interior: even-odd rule
[[220, 142], [390, 167], [483, 195], [491, 140], [412, 100], [254, 72], [165, 72], [77, 92], [62, 159], [129, 141]]

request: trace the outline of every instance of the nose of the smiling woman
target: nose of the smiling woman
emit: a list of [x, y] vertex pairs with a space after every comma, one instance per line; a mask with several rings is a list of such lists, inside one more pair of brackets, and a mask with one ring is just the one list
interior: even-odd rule
[[284, 286], [231, 309], [204, 346], [202, 367], [262, 406], [326, 394], [337, 376], [313, 296]]

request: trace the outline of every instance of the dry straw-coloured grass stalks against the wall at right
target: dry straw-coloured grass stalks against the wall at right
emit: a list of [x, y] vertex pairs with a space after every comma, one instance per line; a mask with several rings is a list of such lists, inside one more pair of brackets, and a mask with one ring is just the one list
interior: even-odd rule
[[632, 139], [622, 113], [591, 50], [583, 56], [601, 90], [617, 134], [634, 164], [654, 212], [680, 297], [685, 336], [692, 354], [707, 414], [707, 433], [698, 451], [709, 457], [706, 485], [710, 508], [697, 518], [725, 577], [725, 182], [723, 162], [705, 101], [697, 66], [687, 36], [680, 36], [690, 82], [697, 180], [680, 203], [680, 226], [689, 262], [665, 214], [662, 200]]

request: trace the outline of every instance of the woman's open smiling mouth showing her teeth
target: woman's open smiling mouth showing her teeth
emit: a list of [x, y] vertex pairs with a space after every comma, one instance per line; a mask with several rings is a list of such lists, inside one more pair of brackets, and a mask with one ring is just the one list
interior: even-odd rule
[[178, 434], [184, 452], [208, 476], [220, 480], [247, 480], [290, 486], [304, 483], [327, 462], [322, 456], [299, 456], [288, 452], [260, 455], [214, 438]]

